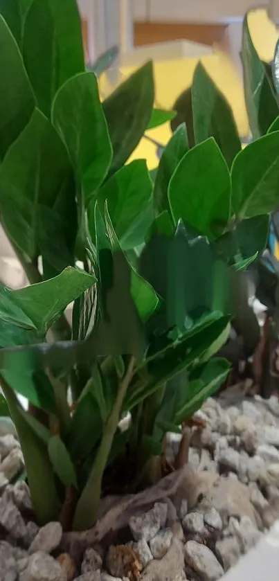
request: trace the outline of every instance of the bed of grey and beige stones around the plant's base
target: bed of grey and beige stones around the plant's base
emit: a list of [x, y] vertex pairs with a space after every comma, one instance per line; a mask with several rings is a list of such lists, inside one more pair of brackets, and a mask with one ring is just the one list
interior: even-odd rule
[[[232, 388], [199, 414], [207, 427], [193, 430], [179, 495], [130, 517], [124, 544], [89, 544], [80, 560], [59, 523], [35, 524], [26, 483], [10, 484], [23, 458], [0, 425], [0, 581], [222, 578], [279, 517], [279, 402]], [[178, 446], [170, 435], [170, 460]]]

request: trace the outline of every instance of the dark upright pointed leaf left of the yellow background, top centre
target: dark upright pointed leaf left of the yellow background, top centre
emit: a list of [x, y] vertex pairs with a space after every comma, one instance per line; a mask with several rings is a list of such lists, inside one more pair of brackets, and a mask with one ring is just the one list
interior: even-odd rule
[[147, 129], [154, 102], [152, 62], [133, 73], [102, 103], [114, 157], [110, 173], [121, 168]]

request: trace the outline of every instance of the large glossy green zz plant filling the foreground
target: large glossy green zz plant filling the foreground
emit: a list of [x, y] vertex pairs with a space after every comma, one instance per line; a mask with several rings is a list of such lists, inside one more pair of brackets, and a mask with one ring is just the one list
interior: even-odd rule
[[265, 246], [279, 132], [242, 152], [200, 66], [210, 98], [206, 111], [194, 99], [197, 144], [179, 126], [153, 184], [145, 160], [128, 161], [173, 117], [153, 108], [152, 63], [100, 102], [75, 0], [0, 1], [0, 12], [0, 217], [30, 282], [0, 285], [1, 413], [39, 523], [82, 530], [107, 491], [152, 481], [165, 434], [228, 375], [217, 353], [235, 276]]

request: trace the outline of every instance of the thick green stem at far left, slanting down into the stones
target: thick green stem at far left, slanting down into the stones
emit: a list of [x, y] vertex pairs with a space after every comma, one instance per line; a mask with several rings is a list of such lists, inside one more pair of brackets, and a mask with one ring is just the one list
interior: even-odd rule
[[[28, 486], [37, 521], [42, 526], [50, 521], [56, 521], [60, 512], [60, 500], [56, 490], [53, 468], [48, 459], [46, 445], [26, 422], [15, 394], [8, 385], [1, 383], [24, 454]], [[46, 483], [48, 494], [42, 494]]]

